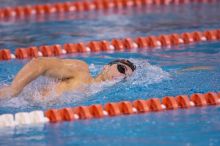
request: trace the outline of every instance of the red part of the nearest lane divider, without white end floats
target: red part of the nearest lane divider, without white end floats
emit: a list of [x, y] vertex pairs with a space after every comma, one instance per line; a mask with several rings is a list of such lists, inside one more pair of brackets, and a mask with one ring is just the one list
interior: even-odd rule
[[[192, 104], [193, 103], [193, 104]], [[133, 102], [121, 101], [118, 103], [94, 104], [74, 108], [49, 109], [45, 116], [50, 122], [74, 121], [76, 119], [103, 118], [106, 116], [130, 115], [137, 113], [159, 112], [165, 110], [186, 109], [207, 105], [219, 105], [220, 92], [195, 93], [190, 96], [178, 95], [160, 98], [139, 99]], [[77, 118], [76, 118], [77, 117]]]

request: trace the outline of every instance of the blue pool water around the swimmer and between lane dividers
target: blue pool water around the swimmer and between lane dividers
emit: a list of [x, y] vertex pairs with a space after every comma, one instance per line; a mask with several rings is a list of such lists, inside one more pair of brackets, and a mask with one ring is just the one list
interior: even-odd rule
[[[82, 13], [77, 19], [38, 22], [1, 22], [0, 46], [17, 47], [79, 42], [120, 37], [147, 36], [219, 28], [219, 3], [194, 4], [118, 12]], [[207, 13], [208, 12], [208, 13]], [[92, 16], [92, 17], [90, 17]], [[85, 19], [86, 18], [86, 19]], [[6, 25], [7, 24], [7, 25]], [[109, 101], [147, 99], [166, 95], [220, 90], [220, 42], [191, 44], [152, 52], [76, 54], [63, 58], [82, 59], [95, 76], [109, 61], [131, 59], [135, 74], [116, 84], [93, 85], [87, 94], [67, 93], [47, 101], [33, 98], [43, 84], [40, 78], [18, 97], [0, 102], [0, 113], [35, 109], [104, 104]], [[0, 62], [0, 84], [9, 84], [28, 60]], [[199, 66], [199, 68], [198, 68]], [[197, 69], [192, 69], [197, 67]], [[114, 118], [63, 122], [0, 129], [0, 145], [219, 145], [220, 108], [211, 106]]]

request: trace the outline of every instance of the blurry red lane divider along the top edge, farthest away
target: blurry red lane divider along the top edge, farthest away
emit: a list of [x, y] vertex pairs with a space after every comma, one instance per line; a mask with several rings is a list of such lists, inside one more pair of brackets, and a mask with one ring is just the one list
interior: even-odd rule
[[77, 2], [60, 2], [39, 5], [5, 7], [0, 9], [0, 21], [8, 18], [28, 18], [36, 15], [49, 15], [64, 12], [83, 12], [92, 10], [120, 9], [146, 5], [169, 5], [188, 3], [211, 3], [218, 0], [92, 0]]

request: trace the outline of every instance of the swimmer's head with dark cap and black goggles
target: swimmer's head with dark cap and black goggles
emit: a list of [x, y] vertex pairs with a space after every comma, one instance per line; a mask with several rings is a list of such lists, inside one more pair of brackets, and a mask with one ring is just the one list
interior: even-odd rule
[[118, 59], [104, 66], [100, 77], [102, 80], [122, 79], [131, 76], [136, 66], [129, 60]]

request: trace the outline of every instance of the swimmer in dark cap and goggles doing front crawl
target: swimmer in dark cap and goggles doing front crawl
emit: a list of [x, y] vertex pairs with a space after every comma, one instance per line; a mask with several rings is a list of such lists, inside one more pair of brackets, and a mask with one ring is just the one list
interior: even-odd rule
[[[18, 72], [11, 85], [0, 89], [0, 100], [19, 95], [26, 85], [39, 76], [57, 79], [54, 89], [56, 96], [60, 96], [64, 92], [81, 90], [83, 85], [129, 77], [135, 69], [135, 65], [129, 60], [119, 59], [105, 65], [100, 74], [92, 77], [88, 65], [81, 60], [34, 58]], [[50, 94], [50, 87], [40, 92], [47, 96]]]

